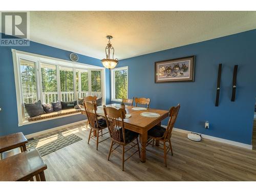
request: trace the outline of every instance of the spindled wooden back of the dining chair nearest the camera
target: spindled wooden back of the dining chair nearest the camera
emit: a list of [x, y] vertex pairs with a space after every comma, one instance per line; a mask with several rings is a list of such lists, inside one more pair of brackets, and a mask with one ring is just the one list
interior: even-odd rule
[[[110, 132], [110, 137], [117, 143], [125, 143], [124, 123], [126, 111], [124, 109], [115, 109], [111, 107], [103, 107], [106, 124]], [[118, 120], [121, 119], [121, 122]], [[121, 130], [122, 128], [122, 130]], [[123, 138], [120, 138], [120, 131], [122, 131]]]

